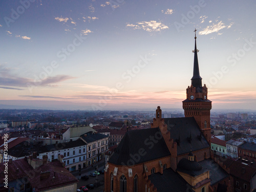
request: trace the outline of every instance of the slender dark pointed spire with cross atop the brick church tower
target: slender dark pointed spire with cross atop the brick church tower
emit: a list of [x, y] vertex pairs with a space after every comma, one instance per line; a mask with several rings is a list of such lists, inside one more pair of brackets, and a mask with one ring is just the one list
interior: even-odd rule
[[195, 29], [195, 50], [193, 50], [194, 55], [194, 71], [193, 71], [193, 77], [191, 78], [191, 84], [194, 87], [202, 87], [202, 77], [200, 77], [199, 74], [199, 65], [198, 65], [198, 57], [197, 57], [197, 36], [196, 36], [196, 29]]

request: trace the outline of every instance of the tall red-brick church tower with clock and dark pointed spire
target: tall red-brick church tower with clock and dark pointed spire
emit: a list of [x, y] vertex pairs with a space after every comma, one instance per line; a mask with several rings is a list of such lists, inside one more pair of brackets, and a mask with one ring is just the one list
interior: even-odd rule
[[197, 53], [197, 36], [195, 30], [194, 71], [191, 86], [186, 89], [186, 99], [182, 101], [185, 117], [194, 117], [207, 141], [210, 141], [210, 110], [211, 101], [207, 97], [206, 85], [202, 87], [199, 74]]

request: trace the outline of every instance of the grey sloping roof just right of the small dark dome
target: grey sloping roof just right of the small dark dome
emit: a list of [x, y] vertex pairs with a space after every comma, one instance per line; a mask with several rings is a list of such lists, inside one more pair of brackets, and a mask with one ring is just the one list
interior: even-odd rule
[[228, 173], [225, 172], [223, 168], [221, 168], [214, 160], [205, 159], [203, 161], [199, 161], [202, 167], [206, 170], [210, 171], [210, 185], [214, 185], [217, 182], [229, 177]]

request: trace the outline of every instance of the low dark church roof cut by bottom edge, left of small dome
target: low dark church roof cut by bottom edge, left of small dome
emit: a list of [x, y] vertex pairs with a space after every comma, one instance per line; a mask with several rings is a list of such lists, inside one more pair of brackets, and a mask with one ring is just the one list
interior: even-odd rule
[[178, 174], [173, 171], [172, 168], [163, 170], [163, 175], [160, 173], [152, 174], [148, 176], [157, 191], [169, 192], [169, 191], [179, 191], [179, 192], [191, 192], [190, 185]]

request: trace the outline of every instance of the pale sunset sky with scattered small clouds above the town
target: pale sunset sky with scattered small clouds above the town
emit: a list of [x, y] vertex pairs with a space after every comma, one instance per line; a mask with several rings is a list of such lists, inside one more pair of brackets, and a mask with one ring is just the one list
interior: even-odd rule
[[200, 75], [213, 109], [256, 109], [255, 1], [0, 2], [0, 105], [180, 108]]

